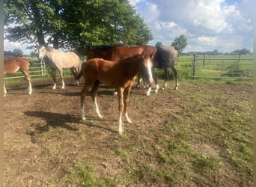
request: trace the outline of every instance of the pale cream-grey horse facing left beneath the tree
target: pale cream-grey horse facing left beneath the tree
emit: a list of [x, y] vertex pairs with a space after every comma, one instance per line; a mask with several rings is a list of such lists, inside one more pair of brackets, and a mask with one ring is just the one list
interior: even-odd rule
[[[82, 65], [82, 61], [76, 53], [74, 52], [61, 52], [58, 49], [54, 49], [51, 46], [40, 46], [39, 49], [39, 59], [46, 61], [47, 64], [52, 69], [52, 77], [54, 85], [52, 89], [56, 89], [56, 70], [60, 73], [61, 77], [61, 89], [65, 88], [63, 69], [70, 68], [73, 76], [76, 77], [76, 74], [79, 73]], [[78, 84], [78, 82], [76, 82]]]

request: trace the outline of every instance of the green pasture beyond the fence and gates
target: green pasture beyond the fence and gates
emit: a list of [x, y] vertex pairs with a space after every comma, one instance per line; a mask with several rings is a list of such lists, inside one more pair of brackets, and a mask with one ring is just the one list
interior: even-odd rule
[[[180, 55], [177, 59], [177, 72], [180, 81], [189, 80], [192, 78], [192, 55]], [[225, 58], [225, 60], [223, 60]], [[237, 59], [238, 55], [217, 55], [217, 56], [198, 56], [195, 63], [195, 76], [194, 78], [201, 79], [252, 79], [253, 62], [252, 55], [241, 55], [240, 61]], [[30, 58], [31, 60], [37, 60]], [[38, 68], [39, 70], [40, 68]], [[171, 79], [174, 75], [170, 69]], [[164, 71], [156, 69], [156, 74], [159, 79], [165, 79]], [[33, 75], [33, 74], [31, 74]], [[58, 71], [56, 75], [59, 76]], [[11, 77], [13, 74], [5, 75], [4, 77]], [[16, 76], [21, 76], [17, 79], [5, 79], [5, 82], [17, 82], [23, 80], [22, 73], [16, 73]], [[73, 76], [69, 69], [64, 70], [64, 77]], [[46, 64], [46, 78], [52, 77], [51, 69]], [[33, 76], [32, 79], [42, 79], [41, 76]]]

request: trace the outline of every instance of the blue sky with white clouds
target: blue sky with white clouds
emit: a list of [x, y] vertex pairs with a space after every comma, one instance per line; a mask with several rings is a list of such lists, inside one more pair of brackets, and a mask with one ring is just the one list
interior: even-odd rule
[[[205, 52], [217, 49], [231, 52], [252, 51], [252, 7], [255, 0], [129, 0], [150, 27], [153, 40], [171, 45], [185, 34], [188, 46], [184, 52]], [[30, 51], [20, 43], [4, 40], [4, 50]]]

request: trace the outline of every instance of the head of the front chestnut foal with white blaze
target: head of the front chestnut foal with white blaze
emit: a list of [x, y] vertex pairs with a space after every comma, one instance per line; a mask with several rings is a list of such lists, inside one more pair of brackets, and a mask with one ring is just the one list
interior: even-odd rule
[[141, 58], [143, 59], [143, 65], [140, 68], [141, 75], [147, 79], [147, 81], [152, 84], [153, 83], [153, 63], [151, 61], [150, 55], [147, 54], [147, 51], [142, 52]]

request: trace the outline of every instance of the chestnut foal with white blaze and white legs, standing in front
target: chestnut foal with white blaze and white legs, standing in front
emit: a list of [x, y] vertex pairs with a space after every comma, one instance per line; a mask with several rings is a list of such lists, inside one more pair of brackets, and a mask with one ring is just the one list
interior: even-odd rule
[[120, 61], [106, 61], [102, 58], [93, 58], [86, 61], [81, 70], [85, 79], [84, 87], [80, 93], [80, 114], [82, 120], [86, 120], [84, 114], [84, 102], [89, 88], [92, 86], [91, 97], [94, 102], [94, 108], [98, 117], [102, 118], [103, 116], [100, 114], [100, 110], [97, 105], [97, 89], [99, 88], [100, 83], [115, 86], [118, 91], [119, 99], [118, 131], [119, 134], [122, 134], [123, 112], [127, 122], [132, 123], [128, 117], [127, 108], [129, 102], [129, 92], [135, 82], [135, 76], [138, 73], [141, 73], [150, 83], [153, 82], [151, 71], [152, 66], [153, 63], [147, 51], [142, 52], [141, 55], [136, 55], [133, 58], [127, 58]]

